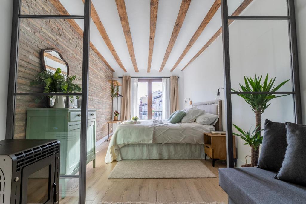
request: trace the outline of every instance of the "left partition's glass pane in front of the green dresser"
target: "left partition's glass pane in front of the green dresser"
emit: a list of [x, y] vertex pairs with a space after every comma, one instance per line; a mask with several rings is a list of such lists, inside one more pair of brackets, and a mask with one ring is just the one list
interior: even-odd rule
[[[47, 108], [45, 96], [16, 96], [14, 139], [58, 139], [61, 142], [60, 175], [79, 174], [81, 99], [58, 96]], [[61, 108], [68, 104], [71, 108]], [[88, 111], [88, 114], [95, 111]], [[93, 146], [94, 116], [88, 116], [88, 144]], [[90, 150], [92, 148], [88, 148]]]

